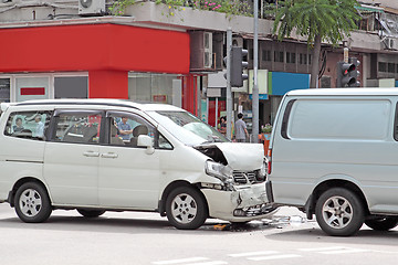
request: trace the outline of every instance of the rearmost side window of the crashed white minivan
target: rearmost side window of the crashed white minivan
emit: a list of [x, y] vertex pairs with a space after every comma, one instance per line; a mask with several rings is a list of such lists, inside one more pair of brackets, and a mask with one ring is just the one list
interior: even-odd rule
[[32, 140], [45, 140], [51, 112], [11, 113], [4, 128], [4, 135]]

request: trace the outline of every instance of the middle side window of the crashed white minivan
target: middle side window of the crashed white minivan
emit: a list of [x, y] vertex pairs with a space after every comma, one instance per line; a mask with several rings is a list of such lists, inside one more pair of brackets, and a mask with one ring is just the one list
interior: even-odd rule
[[55, 116], [53, 141], [100, 144], [102, 115], [66, 112]]

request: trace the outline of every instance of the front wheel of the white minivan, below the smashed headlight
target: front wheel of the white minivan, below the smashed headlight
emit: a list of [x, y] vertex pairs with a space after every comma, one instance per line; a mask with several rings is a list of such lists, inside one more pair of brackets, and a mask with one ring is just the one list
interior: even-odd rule
[[208, 218], [208, 206], [202, 194], [190, 187], [179, 187], [166, 200], [168, 221], [179, 230], [196, 230]]

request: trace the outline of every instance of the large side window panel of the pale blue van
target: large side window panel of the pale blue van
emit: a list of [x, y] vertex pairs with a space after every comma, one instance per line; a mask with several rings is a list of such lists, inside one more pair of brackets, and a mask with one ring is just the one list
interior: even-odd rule
[[287, 135], [296, 139], [383, 140], [388, 136], [391, 103], [380, 99], [294, 102]]

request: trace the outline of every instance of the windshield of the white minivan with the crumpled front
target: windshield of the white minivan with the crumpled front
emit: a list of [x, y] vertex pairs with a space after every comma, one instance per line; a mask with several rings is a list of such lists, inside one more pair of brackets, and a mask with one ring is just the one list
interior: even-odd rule
[[187, 112], [148, 112], [163, 127], [187, 146], [229, 141], [222, 134]]

